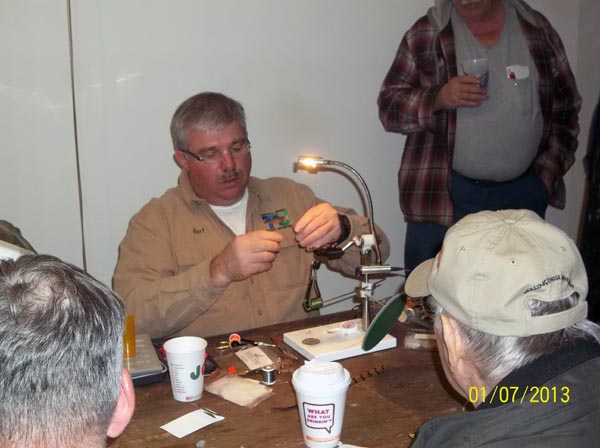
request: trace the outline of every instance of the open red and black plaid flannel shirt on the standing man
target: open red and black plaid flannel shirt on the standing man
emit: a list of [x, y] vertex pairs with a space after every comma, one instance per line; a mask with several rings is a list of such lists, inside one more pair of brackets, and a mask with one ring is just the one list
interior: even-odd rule
[[[513, 5], [539, 73], [544, 127], [533, 168], [550, 192], [550, 205], [564, 208], [563, 176], [575, 161], [581, 96], [550, 22], [520, 0]], [[385, 130], [407, 135], [398, 172], [404, 219], [450, 226], [456, 110], [434, 113], [433, 105], [458, 72], [452, 25], [436, 23], [431, 13], [404, 35], [377, 102]]]

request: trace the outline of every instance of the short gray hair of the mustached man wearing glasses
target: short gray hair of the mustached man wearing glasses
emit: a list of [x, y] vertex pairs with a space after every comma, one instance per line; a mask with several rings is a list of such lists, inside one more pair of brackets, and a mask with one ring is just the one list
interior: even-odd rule
[[188, 98], [179, 105], [171, 119], [171, 139], [173, 148], [187, 148], [186, 134], [195, 129], [202, 132], [214, 132], [238, 122], [246, 130], [244, 107], [236, 100], [222, 93], [203, 92]]

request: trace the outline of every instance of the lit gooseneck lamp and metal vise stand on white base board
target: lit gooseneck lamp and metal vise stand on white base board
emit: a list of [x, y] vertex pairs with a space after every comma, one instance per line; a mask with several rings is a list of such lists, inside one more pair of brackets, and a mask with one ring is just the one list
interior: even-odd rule
[[[359, 296], [361, 299], [361, 315], [360, 322], [347, 321], [337, 324], [323, 325], [320, 327], [309, 328], [284, 334], [284, 341], [291, 345], [298, 352], [303, 354], [308, 359], [318, 358], [323, 361], [334, 361], [337, 359], [349, 358], [365, 353], [370, 353], [379, 350], [385, 350], [396, 346], [396, 338], [385, 334], [391, 329], [393, 321], [390, 320], [389, 325], [383, 328], [377, 325], [377, 329], [372, 328], [371, 324], [371, 300], [373, 297], [373, 282], [369, 281], [371, 274], [386, 274], [392, 271], [400, 270], [401, 268], [393, 268], [391, 266], [381, 264], [381, 251], [379, 249], [379, 239], [376, 233], [375, 220], [373, 218], [373, 201], [371, 193], [367, 187], [367, 183], [363, 177], [352, 168], [350, 165], [339, 162], [337, 160], [327, 160], [323, 157], [301, 155], [296, 163], [297, 169], [305, 169], [310, 172], [326, 170], [328, 167], [340, 167], [352, 173], [360, 182], [363, 188], [363, 194], [367, 204], [367, 220], [369, 223], [369, 234], [355, 236], [349, 243], [342, 248], [328, 247], [321, 248], [316, 251], [318, 255], [323, 255], [330, 258], [337, 258], [351, 246], [357, 246], [361, 251], [361, 265], [357, 267], [356, 274], [362, 275], [363, 280], [360, 283]], [[375, 256], [375, 264], [369, 264], [371, 256]], [[316, 284], [316, 269], [319, 267], [319, 262], [313, 263], [313, 274], [311, 284], [307, 291], [307, 298], [304, 302], [304, 308], [307, 311], [321, 308], [327, 300], [320, 297], [318, 285]], [[309, 291], [315, 288], [319, 297], [310, 299]], [[330, 299], [336, 300], [337, 298]], [[392, 303], [393, 302], [393, 303]], [[393, 307], [397, 310], [404, 307], [405, 296], [394, 296], [385, 306], [385, 308]], [[383, 309], [382, 309], [383, 311]], [[385, 315], [393, 313], [385, 313]], [[398, 314], [400, 312], [398, 311]], [[396, 316], [398, 315], [396, 314]], [[380, 316], [378, 315], [376, 320]], [[389, 319], [388, 319], [389, 320]], [[395, 320], [395, 318], [394, 318]], [[360, 328], [358, 324], [360, 323]], [[374, 323], [374, 322], [373, 322]], [[376, 331], [373, 331], [376, 330]]]

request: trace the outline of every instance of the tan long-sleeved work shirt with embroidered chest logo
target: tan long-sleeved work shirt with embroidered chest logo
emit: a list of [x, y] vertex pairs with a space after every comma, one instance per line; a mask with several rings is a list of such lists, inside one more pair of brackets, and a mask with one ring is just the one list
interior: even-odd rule
[[[310, 278], [312, 253], [298, 246], [292, 227], [310, 207], [322, 202], [305, 185], [286, 178], [248, 183], [246, 231], [275, 226], [283, 235], [281, 252], [268, 272], [215, 287], [210, 261], [235, 238], [231, 229], [194, 193], [187, 173], [179, 185], [152, 199], [129, 223], [119, 249], [113, 286], [136, 317], [137, 333], [152, 338], [211, 336], [305, 318], [302, 302]], [[285, 216], [269, 220], [269, 214]], [[367, 219], [338, 208], [351, 222], [350, 238], [369, 232]], [[382, 256], [389, 243], [381, 230]], [[344, 243], [342, 243], [344, 244]], [[349, 249], [332, 269], [353, 274], [359, 250]]]

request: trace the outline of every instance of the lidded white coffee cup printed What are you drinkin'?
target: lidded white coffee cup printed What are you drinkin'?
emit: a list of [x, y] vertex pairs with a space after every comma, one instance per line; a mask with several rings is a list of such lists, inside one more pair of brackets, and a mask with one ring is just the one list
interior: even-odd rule
[[338, 362], [312, 360], [292, 375], [304, 443], [332, 448], [340, 441], [350, 373]]

